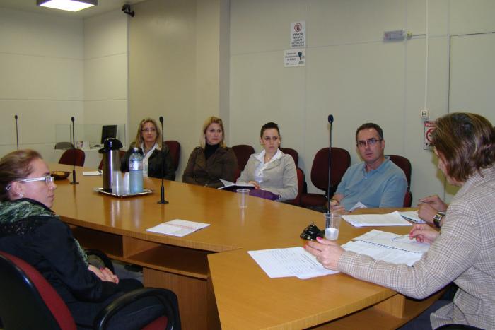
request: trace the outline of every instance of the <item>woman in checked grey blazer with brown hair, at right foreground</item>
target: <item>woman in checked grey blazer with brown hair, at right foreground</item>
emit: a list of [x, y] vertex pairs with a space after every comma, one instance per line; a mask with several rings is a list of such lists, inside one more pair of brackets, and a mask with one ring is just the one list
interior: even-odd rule
[[446, 324], [495, 329], [495, 129], [479, 114], [446, 114], [436, 119], [433, 143], [438, 168], [460, 189], [439, 231], [417, 224], [409, 232], [410, 239], [431, 243], [419, 261], [412, 266], [390, 264], [324, 239], [308, 242], [306, 250], [327, 269], [414, 299], [424, 299], [452, 281], [458, 285], [453, 301], [438, 300], [403, 329]]

